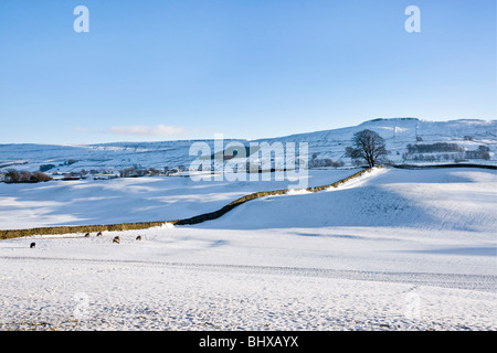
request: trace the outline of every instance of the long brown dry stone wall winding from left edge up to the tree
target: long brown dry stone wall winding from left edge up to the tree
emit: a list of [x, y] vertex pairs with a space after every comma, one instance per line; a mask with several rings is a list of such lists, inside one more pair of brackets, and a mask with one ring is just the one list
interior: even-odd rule
[[[363, 169], [357, 173], [353, 173], [352, 175], [349, 175], [345, 179], [341, 179], [335, 183], [322, 185], [322, 186], [315, 186], [315, 188], [307, 188], [307, 189], [298, 189], [293, 191], [307, 191], [307, 192], [319, 192], [325, 189], [329, 188], [337, 188], [346, 182], [348, 182], [351, 179], [359, 178], [366, 173], [371, 172], [373, 169], [383, 168], [382, 165], [377, 165], [373, 168]], [[0, 229], [0, 239], [10, 239], [10, 238], [17, 238], [17, 237], [23, 237], [23, 236], [31, 236], [31, 235], [60, 235], [60, 234], [71, 234], [71, 233], [94, 233], [94, 232], [118, 232], [118, 231], [138, 231], [138, 229], [147, 229], [151, 227], [158, 227], [162, 226], [165, 224], [172, 224], [172, 225], [193, 225], [199, 224], [207, 221], [213, 221], [216, 220], [234, 207], [240, 206], [241, 204], [244, 204], [245, 202], [248, 202], [251, 200], [261, 199], [265, 196], [275, 196], [275, 195], [284, 195], [288, 193], [290, 189], [283, 189], [283, 190], [274, 190], [274, 191], [261, 191], [261, 192], [254, 192], [252, 194], [242, 196], [228, 205], [223, 206], [222, 208], [203, 213], [193, 217], [183, 218], [183, 220], [175, 220], [175, 221], [157, 221], [157, 222], [135, 222], [135, 223], [118, 223], [118, 224], [98, 224], [98, 225], [67, 225], [67, 226], [54, 226], [54, 227], [35, 227], [35, 228], [27, 228], [27, 229]]]

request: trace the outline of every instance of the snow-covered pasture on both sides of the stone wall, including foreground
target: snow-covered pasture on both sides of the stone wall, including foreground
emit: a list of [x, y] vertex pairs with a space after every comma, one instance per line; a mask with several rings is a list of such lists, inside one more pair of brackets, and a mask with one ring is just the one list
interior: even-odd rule
[[[286, 186], [3, 184], [0, 228], [173, 220]], [[496, 330], [496, 205], [493, 170], [379, 169], [197, 226], [1, 240], [0, 330]]]

